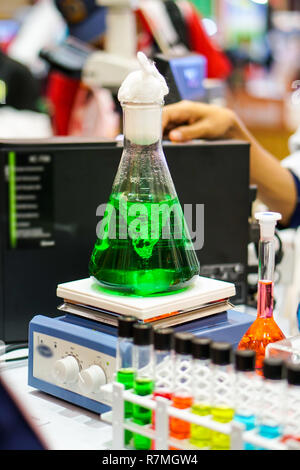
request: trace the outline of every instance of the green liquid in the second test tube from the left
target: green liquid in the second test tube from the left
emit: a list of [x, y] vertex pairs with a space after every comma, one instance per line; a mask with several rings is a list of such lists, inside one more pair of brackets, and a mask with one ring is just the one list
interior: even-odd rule
[[[134, 392], [137, 395], [151, 395], [154, 389], [154, 381], [147, 377], [137, 378], [134, 381]], [[144, 406], [133, 404], [133, 422], [140, 426], [150, 424], [152, 421], [152, 410]], [[151, 449], [151, 439], [135, 433], [133, 436], [134, 448], [138, 450]]]

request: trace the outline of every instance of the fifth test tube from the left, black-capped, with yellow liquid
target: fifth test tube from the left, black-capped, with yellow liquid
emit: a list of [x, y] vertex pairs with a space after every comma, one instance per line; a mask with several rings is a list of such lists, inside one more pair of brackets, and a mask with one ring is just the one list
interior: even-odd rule
[[[211, 367], [210, 338], [193, 338], [192, 340], [192, 413], [208, 416], [211, 413]], [[191, 424], [190, 443], [199, 448], [209, 448], [211, 430], [204, 426]]]

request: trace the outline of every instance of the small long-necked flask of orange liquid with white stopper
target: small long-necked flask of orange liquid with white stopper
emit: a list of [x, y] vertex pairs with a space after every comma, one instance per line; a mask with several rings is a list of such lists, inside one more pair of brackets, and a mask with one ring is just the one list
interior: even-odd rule
[[256, 352], [256, 372], [262, 375], [267, 345], [285, 338], [273, 317], [274, 231], [281, 215], [259, 212], [255, 217], [260, 222], [257, 317], [242, 337], [238, 349], [252, 349]]

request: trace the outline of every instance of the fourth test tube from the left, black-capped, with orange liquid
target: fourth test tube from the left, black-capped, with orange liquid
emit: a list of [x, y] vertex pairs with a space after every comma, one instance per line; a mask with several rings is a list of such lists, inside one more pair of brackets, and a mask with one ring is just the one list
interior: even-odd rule
[[[174, 348], [174, 390], [172, 394], [172, 406], [179, 409], [187, 409], [192, 406], [192, 339], [189, 333], [175, 333]], [[178, 418], [170, 419], [170, 437], [178, 440], [190, 437], [190, 423]], [[171, 447], [171, 449], [174, 449]]]

